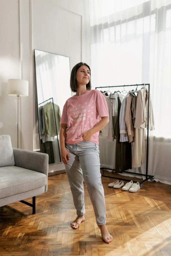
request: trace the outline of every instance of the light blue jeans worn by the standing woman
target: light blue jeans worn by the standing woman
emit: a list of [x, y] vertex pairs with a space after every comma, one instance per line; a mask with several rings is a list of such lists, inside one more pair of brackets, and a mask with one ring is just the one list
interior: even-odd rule
[[71, 187], [77, 215], [85, 214], [84, 187], [85, 179], [88, 193], [94, 208], [98, 225], [106, 224], [105, 197], [100, 174], [99, 146], [92, 141], [81, 141], [76, 144], [65, 143], [70, 160], [65, 165]]

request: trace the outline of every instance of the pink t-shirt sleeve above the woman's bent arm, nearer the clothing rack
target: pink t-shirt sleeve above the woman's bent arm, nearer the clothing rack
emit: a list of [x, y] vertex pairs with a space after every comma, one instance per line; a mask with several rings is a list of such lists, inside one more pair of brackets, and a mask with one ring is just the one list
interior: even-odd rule
[[108, 111], [106, 99], [100, 91], [98, 91], [97, 93], [96, 108], [100, 117], [103, 117], [103, 116], [109, 117], [109, 111]]

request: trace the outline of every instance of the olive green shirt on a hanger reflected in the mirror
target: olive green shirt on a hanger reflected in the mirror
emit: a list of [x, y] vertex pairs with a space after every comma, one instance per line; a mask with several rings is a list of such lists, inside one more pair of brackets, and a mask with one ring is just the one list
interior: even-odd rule
[[[55, 117], [54, 117], [54, 110], [55, 110]], [[48, 102], [43, 106], [43, 135], [49, 135], [50, 137], [56, 136], [56, 126], [57, 126], [57, 133], [59, 134], [60, 131], [60, 121], [61, 121], [61, 111], [58, 105], [54, 104], [53, 110], [53, 103]], [[55, 118], [56, 118], [56, 125], [55, 125]]]

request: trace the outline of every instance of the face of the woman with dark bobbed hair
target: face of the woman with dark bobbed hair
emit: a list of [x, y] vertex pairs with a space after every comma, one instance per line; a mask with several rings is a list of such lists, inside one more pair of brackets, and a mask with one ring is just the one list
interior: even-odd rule
[[90, 81], [90, 70], [87, 66], [81, 66], [76, 73], [78, 85], [85, 85]]

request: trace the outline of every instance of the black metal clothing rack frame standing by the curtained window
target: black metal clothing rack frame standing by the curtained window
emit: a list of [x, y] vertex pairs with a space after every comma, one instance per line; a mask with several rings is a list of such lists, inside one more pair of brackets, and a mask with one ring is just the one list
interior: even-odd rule
[[[134, 172], [127, 172], [127, 171], [124, 171], [123, 173], [129, 173], [129, 174], [135, 174], [135, 175], [140, 175], [140, 176], [146, 176], [146, 178], [144, 180], [142, 180], [141, 182], [139, 182], [140, 184], [140, 187], [143, 186], [143, 182], [149, 180], [149, 179], [153, 179], [154, 176], [152, 175], [149, 175], [148, 174], [148, 147], [149, 147], [149, 102], [150, 102], [150, 84], [147, 83], [147, 84], [130, 84], [130, 85], [119, 85], [119, 86], [100, 86], [100, 87], [96, 87], [95, 89], [97, 88], [114, 88], [114, 87], [127, 87], [127, 86], [148, 86], [148, 113], [147, 113], [147, 152], [146, 152], [146, 174], [140, 174], [140, 173], [134, 173]], [[104, 173], [104, 170], [107, 169], [107, 170], [115, 170], [115, 169], [110, 169], [110, 168], [104, 168], [104, 167], [101, 167], [100, 168], [103, 173]], [[130, 179], [124, 179], [124, 178], [116, 178], [116, 177], [112, 177], [112, 176], [108, 176], [108, 175], [102, 175], [103, 177], [107, 177], [107, 178], [112, 178], [112, 179], [119, 179], [119, 180], [124, 180], [124, 181], [131, 181]], [[134, 183], [136, 183], [136, 181], [133, 181]]]

